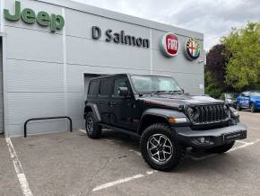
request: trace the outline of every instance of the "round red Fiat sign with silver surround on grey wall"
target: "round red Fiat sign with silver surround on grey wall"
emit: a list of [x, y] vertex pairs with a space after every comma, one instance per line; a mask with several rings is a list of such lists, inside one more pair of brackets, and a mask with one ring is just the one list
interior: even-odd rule
[[160, 50], [164, 55], [172, 58], [178, 55], [178, 37], [177, 35], [168, 32], [162, 36], [160, 41]]

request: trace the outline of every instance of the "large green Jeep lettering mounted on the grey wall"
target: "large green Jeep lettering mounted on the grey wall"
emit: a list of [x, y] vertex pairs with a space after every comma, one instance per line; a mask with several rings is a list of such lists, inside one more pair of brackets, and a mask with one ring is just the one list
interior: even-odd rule
[[8, 21], [17, 22], [22, 18], [23, 22], [33, 24], [38, 22], [40, 26], [46, 26], [50, 28], [51, 32], [62, 30], [65, 26], [65, 19], [62, 15], [56, 15], [54, 13], [48, 14], [40, 11], [36, 14], [30, 8], [21, 9], [21, 2], [15, 1], [14, 13], [10, 13], [9, 10], [4, 9], [4, 18]]

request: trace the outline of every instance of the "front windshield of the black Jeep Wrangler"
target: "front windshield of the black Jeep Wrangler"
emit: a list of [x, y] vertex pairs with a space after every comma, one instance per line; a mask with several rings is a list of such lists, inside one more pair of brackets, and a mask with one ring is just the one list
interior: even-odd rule
[[131, 76], [138, 94], [182, 92], [178, 83], [169, 76]]

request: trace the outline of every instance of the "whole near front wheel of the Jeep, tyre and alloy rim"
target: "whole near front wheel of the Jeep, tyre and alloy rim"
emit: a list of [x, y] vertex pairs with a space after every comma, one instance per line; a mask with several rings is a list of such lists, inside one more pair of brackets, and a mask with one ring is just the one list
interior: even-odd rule
[[145, 129], [140, 143], [143, 159], [153, 169], [169, 171], [184, 161], [186, 148], [166, 124], [153, 124]]

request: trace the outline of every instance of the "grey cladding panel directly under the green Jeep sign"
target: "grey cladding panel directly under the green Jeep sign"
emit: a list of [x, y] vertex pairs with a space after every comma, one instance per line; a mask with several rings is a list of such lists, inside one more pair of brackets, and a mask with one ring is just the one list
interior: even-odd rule
[[5, 27], [7, 58], [63, 62], [62, 35]]

